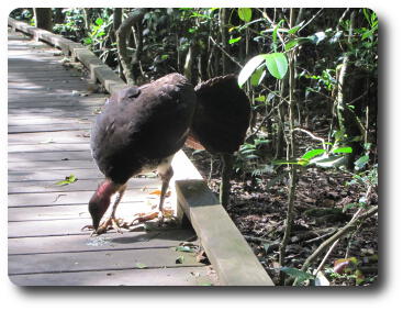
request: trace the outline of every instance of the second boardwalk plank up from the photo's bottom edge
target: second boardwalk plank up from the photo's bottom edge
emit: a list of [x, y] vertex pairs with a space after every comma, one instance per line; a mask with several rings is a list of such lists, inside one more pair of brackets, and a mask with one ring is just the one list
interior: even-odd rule
[[[176, 263], [179, 254], [183, 263]], [[9, 275], [133, 269], [137, 264], [148, 268], [203, 266], [195, 254], [178, 253], [172, 247], [113, 249], [81, 253], [9, 255]]]

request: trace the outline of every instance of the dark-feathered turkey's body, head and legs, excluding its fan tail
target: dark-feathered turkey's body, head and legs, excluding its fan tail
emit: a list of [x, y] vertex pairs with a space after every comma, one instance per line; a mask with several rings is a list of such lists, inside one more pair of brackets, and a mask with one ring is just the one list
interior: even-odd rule
[[[112, 222], [127, 180], [157, 170], [163, 180], [159, 210], [173, 175], [170, 165], [187, 140], [195, 108], [191, 84], [179, 74], [167, 75], [142, 87], [127, 87], [111, 96], [91, 132], [92, 156], [105, 180], [89, 201], [94, 232], [103, 233]], [[100, 220], [119, 196], [111, 216]]]

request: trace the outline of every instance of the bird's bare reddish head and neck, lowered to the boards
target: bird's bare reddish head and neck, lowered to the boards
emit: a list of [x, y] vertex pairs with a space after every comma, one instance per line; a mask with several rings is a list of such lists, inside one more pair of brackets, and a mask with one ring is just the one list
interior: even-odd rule
[[111, 180], [103, 181], [93, 193], [88, 203], [88, 210], [92, 218], [93, 229], [97, 231], [99, 223], [111, 203], [111, 197], [116, 192], [116, 186]]

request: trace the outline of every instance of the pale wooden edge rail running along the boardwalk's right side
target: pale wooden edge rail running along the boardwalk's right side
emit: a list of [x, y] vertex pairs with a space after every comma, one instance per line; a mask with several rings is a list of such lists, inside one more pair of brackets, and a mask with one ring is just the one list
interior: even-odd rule
[[[9, 18], [9, 25], [72, 55], [111, 93], [125, 87], [115, 73], [81, 44]], [[182, 151], [172, 160], [177, 210], [186, 214], [224, 286], [272, 286], [254, 252]], [[176, 192], [176, 193], [175, 193]], [[173, 199], [173, 198], [172, 198]], [[173, 200], [172, 200], [173, 201]]]

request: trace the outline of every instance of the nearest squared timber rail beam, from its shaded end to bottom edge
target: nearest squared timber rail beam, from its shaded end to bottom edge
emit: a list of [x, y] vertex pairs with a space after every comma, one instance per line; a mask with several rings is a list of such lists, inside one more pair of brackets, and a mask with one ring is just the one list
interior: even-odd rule
[[249, 245], [203, 180], [177, 180], [177, 196], [222, 285], [272, 286]]

